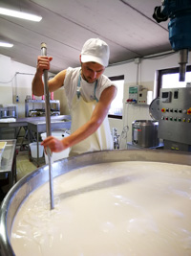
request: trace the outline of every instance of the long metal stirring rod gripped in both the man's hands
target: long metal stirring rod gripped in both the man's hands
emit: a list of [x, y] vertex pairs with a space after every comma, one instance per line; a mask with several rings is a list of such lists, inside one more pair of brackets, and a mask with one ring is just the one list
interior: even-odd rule
[[[46, 43], [41, 43], [41, 55], [47, 56], [47, 45]], [[47, 137], [51, 136], [51, 106], [50, 106], [50, 95], [49, 95], [49, 85], [48, 85], [48, 70], [44, 70], [44, 95], [45, 95], [45, 113], [46, 113], [46, 129]], [[51, 198], [51, 210], [54, 208], [53, 204], [53, 157], [50, 148], [46, 149], [49, 159], [49, 185], [50, 185], [50, 198]]]

